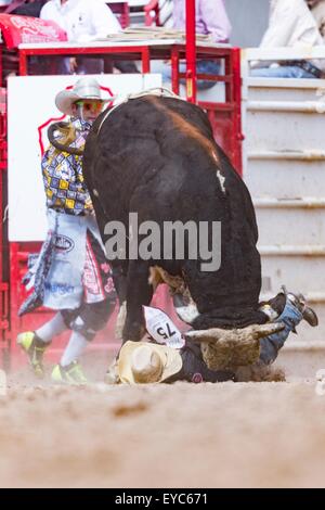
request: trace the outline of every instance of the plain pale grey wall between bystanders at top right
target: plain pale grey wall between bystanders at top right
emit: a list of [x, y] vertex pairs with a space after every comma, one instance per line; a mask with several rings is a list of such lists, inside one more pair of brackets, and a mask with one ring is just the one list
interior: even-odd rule
[[224, 0], [233, 30], [231, 43], [240, 48], [259, 46], [268, 27], [269, 0]]

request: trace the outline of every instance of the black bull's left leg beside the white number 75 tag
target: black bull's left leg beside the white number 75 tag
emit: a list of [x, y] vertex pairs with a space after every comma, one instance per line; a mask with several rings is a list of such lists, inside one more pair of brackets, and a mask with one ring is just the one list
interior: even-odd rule
[[127, 319], [123, 328], [123, 342], [134, 342], [144, 334], [142, 306], [150, 305], [153, 288], [148, 283], [150, 266], [143, 260], [130, 260], [127, 282]]

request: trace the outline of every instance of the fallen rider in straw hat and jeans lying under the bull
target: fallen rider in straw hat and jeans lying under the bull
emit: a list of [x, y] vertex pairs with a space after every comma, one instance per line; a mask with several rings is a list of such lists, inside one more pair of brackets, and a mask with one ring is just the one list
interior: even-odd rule
[[179, 349], [152, 341], [126, 342], [116, 365], [116, 382], [238, 381], [243, 368], [251, 369], [251, 379], [253, 373], [268, 370], [301, 320], [312, 327], [318, 323], [304, 297], [285, 288], [273, 299], [262, 303], [261, 309], [270, 316], [266, 324], [240, 330], [193, 330], [184, 334], [185, 344]]

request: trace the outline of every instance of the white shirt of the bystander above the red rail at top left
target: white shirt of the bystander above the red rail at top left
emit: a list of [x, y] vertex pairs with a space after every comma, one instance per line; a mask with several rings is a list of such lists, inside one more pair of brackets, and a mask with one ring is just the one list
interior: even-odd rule
[[56, 22], [69, 41], [87, 42], [117, 34], [120, 24], [104, 0], [50, 0], [41, 12], [42, 20]]

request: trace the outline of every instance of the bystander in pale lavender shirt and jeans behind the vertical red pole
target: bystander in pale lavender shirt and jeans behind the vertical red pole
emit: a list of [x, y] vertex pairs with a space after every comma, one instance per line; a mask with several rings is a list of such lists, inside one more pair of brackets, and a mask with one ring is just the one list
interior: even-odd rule
[[[173, 0], [173, 28], [185, 30], [186, 9], [184, 0]], [[223, 0], [196, 0], [195, 24], [196, 33], [210, 36], [211, 42], [229, 42], [231, 34], [231, 23], [229, 21]], [[171, 81], [171, 68], [169, 64], [159, 61], [151, 63], [152, 73], [161, 73], [166, 85]], [[186, 72], [186, 64], [180, 63], [180, 72]], [[196, 73], [206, 75], [220, 74], [219, 60], [198, 60], [196, 62]], [[213, 87], [216, 81], [198, 80], [197, 88], [205, 90]]]

